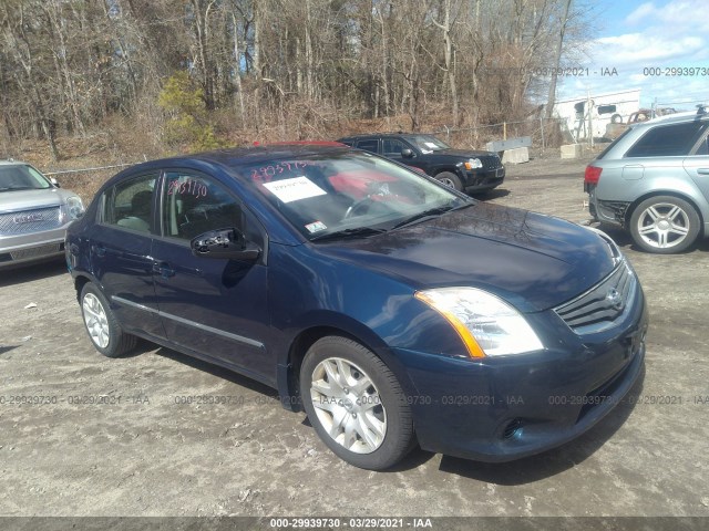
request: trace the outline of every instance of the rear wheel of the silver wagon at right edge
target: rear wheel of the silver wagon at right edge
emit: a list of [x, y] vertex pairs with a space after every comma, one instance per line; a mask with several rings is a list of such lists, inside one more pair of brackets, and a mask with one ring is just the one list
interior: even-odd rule
[[674, 196], [646, 199], [630, 216], [633, 240], [648, 252], [671, 254], [688, 249], [699, 236], [699, 215]]

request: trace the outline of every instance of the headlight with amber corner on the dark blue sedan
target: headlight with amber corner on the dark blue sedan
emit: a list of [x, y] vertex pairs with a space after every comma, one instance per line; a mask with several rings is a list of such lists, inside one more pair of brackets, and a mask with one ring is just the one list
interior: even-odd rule
[[544, 348], [522, 314], [486, 291], [440, 288], [417, 291], [415, 298], [451, 323], [471, 357], [524, 354]]

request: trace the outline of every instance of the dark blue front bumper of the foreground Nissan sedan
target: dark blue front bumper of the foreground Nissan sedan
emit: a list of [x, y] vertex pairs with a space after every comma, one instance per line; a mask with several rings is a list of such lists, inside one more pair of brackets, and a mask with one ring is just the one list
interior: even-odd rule
[[647, 306], [641, 290], [623, 322], [578, 336], [553, 311], [534, 317], [538, 353], [470, 358], [395, 351], [418, 395], [409, 396], [420, 446], [501, 462], [578, 437], [640, 377]]

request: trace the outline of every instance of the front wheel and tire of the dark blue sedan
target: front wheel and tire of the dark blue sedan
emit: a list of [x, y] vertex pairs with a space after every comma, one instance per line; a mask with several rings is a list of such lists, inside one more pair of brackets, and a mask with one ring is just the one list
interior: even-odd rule
[[364, 346], [318, 340], [300, 368], [300, 396], [322, 441], [342, 460], [382, 470], [414, 445], [413, 420], [395, 376]]

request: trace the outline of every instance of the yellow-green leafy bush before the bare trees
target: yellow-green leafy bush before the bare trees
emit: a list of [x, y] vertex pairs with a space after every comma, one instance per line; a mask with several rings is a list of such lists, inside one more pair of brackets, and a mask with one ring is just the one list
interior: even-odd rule
[[168, 114], [164, 139], [171, 146], [186, 146], [189, 152], [224, 147], [214, 127], [207, 123], [204, 92], [186, 72], [177, 72], [166, 82], [157, 104]]

